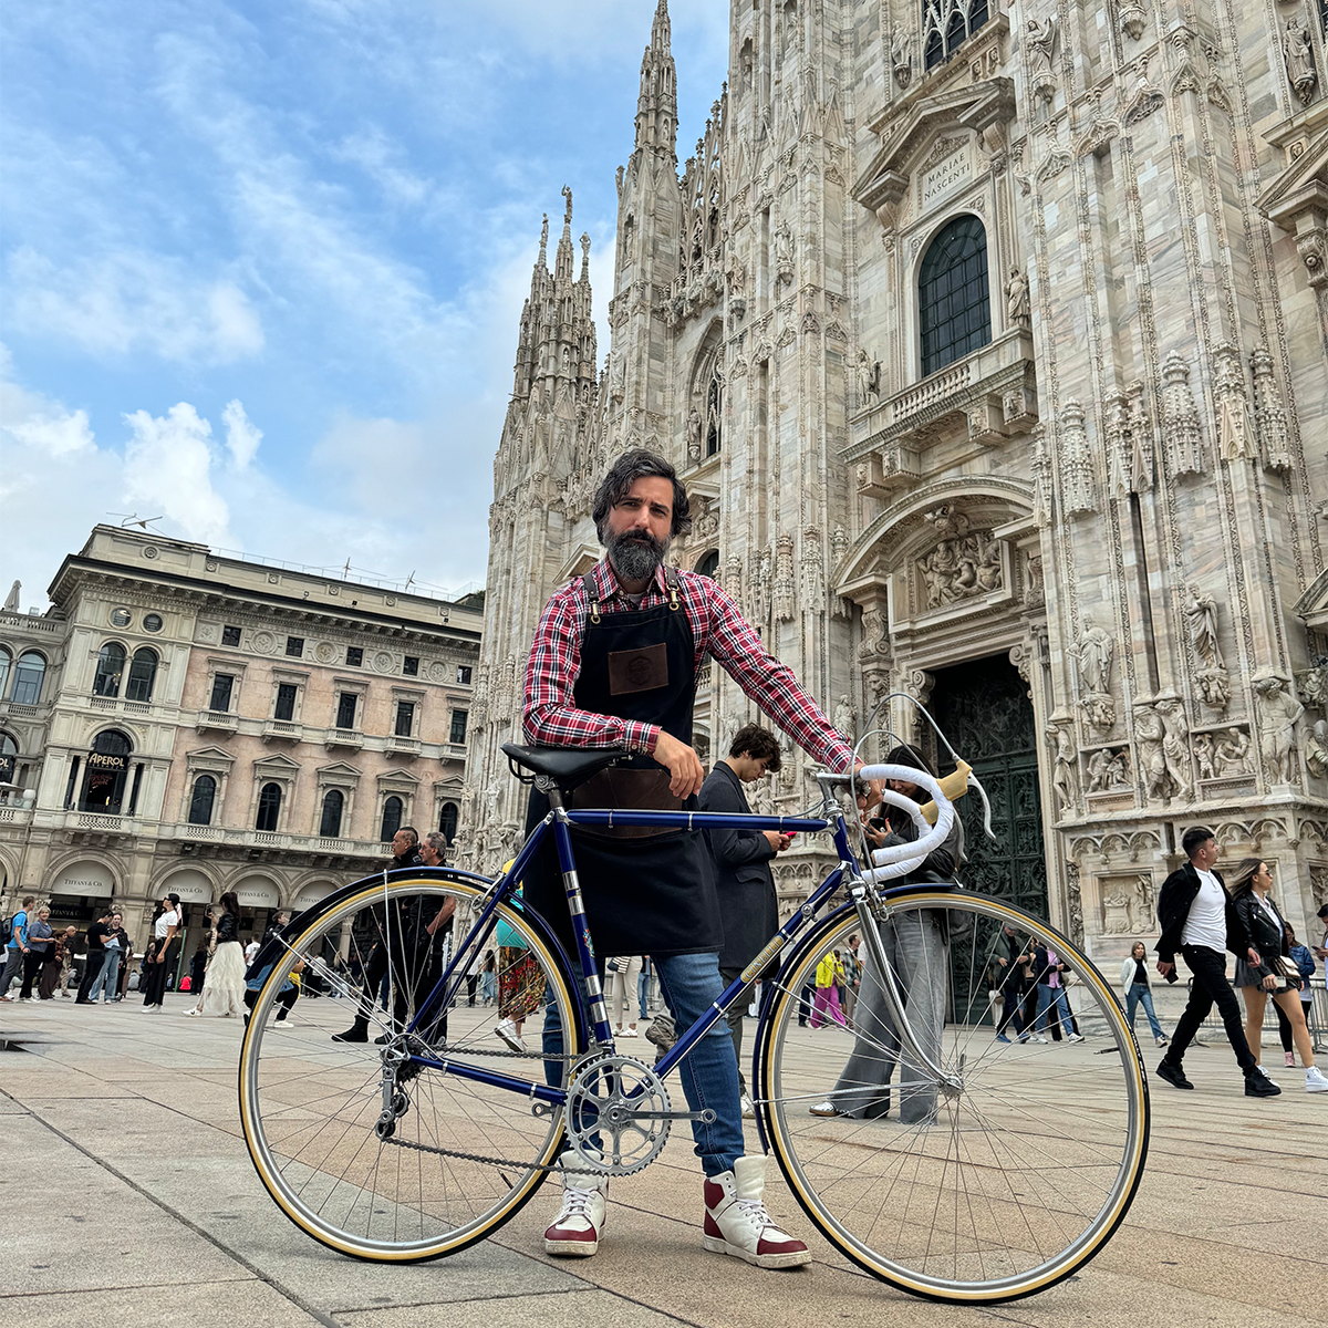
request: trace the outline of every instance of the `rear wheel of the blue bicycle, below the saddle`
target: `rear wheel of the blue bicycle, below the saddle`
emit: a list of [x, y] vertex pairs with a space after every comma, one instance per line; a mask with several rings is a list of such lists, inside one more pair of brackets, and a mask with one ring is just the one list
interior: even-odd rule
[[[414, 1065], [409, 1070], [417, 1073], [400, 1084], [405, 1098], [394, 1106], [405, 1110], [390, 1137], [376, 1131], [390, 1046], [374, 1037], [392, 1038], [414, 1019], [450, 957], [446, 928], [417, 943], [418, 922], [436, 918], [449, 900], [465, 911], [479, 896], [475, 886], [438, 871], [386, 886], [371, 878], [288, 938], [290, 952], [254, 1004], [239, 1066], [250, 1157], [286, 1215], [341, 1254], [413, 1262], [463, 1250], [519, 1211], [562, 1149], [562, 1113], [537, 1116], [529, 1090]], [[432, 1027], [421, 1032], [436, 1054], [445, 1048], [454, 1061], [543, 1084], [544, 1004], [551, 1000], [563, 1028], [572, 1029], [572, 997], [542, 932], [506, 906], [499, 916], [510, 928], [503, 939], [521, 942], [501, 951], [483, 943], [502, 956], [503, 996], [491, 1005], [477, 997], [471, 1007], [462, 983], [445, 1023], [430, 1012]], [[337, 955], [353, 980], [337, 976]], [[303, 995], [279, 1023], [283, 988], [290, 999], [300, 961], [308, 988], [321, 981], [341, 999]], [[371, 1008], [365, 1041], [332, 1040], [357, 1009]], [[497, 1035], [502, 1015], [517, 1011], [527, 1021], [525, 1058]], [[559, 1058], [556, 1082], [564, 1078]]]

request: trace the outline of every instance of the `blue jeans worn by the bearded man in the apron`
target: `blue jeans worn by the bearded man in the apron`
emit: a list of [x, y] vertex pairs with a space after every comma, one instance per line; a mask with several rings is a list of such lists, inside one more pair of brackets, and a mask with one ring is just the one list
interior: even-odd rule
[[[660, 980], [664, 1004], [673, 1016], [679, 1033], [685, 1032], [724, 992], [718, 955], [651, 956]], [[603, 981], [603, 967], [600, 968]], [[584, 995], [584, 993], [583, 993]], [[563, 1054], [563, 1028], [552, 1000], [544, 1005], [543, 1049], [547, 1056]], [[709, 1032], [692, 1048], [679, 1065], [683, 1094], [693, 1112], [709, 1108], [714, 1123], [692, 1121], [696, 1155], [706, 1175], [732, 1171], [733, 1163], [746, 1153], [742, 1142], [742, 1108], [738, 1101], [738, 1061], [733, 1054], [733, 1036], [728, 1021], [716, 1019]], [[562, 1082], [562, 1068], [544, 1062], [550, 1084]]]

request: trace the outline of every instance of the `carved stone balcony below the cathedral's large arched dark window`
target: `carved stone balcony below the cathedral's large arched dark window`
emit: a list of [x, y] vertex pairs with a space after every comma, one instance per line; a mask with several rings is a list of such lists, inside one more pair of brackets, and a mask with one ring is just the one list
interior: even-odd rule
[[1017, 328], [859, 412], [843, 458], [857, 465], [858, 493], [890, 499], [930, 478], [926, 449], [999, 448], [1036, 422], [1033, 339]]

